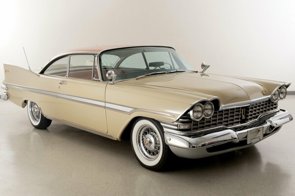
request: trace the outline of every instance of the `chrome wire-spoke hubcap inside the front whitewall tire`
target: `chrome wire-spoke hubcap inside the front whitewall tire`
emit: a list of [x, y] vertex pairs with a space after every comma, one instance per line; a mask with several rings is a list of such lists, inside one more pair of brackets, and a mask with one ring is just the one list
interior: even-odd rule
[[149, 125], [140, 127], [137, 136], [137, 144], [142, 155], [152, 161], [160, 152], [160, 140], [156, 131]]

